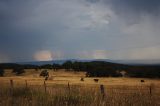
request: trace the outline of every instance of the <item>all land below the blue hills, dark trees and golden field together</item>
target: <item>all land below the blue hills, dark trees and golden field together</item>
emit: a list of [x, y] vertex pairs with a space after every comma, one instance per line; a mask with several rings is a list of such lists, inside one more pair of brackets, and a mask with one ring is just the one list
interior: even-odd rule
[[0, 64], [0, 106], [159, 106], [160, 66]]

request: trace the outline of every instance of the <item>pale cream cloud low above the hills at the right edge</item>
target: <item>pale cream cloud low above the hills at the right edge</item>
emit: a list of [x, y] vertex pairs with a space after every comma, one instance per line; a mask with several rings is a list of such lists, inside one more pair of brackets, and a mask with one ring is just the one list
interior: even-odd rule
[[160, 46], [110, 51], [109, 56], [114, 60], [157, 60], [160, 59]]

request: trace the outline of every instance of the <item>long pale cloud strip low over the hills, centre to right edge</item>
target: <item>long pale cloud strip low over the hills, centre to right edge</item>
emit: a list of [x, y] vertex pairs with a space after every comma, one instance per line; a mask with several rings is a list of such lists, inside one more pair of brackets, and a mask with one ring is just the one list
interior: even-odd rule
[[77, 55], [82, 59], [113, 59], [113, 60], [157, 60], [160, 59], [160, 45], [144, 48], [122, 50], [80, 51]]

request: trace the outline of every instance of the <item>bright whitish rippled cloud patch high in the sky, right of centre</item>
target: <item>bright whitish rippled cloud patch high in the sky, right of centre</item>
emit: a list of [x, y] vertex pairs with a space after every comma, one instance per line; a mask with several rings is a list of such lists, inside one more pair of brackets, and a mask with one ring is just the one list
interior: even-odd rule
[[106, 6], [100, 4], [81, 4], [81, 11], [74, 11], [74, 15], [70, 17], [71, 28], [102, 28], [110, 23], [113, 12]]

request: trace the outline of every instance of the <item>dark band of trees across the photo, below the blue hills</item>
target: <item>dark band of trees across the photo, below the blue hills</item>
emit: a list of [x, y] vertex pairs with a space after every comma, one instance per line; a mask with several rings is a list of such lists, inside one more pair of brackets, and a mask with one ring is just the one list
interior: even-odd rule
[[63, 64], [20, 65], [20, 64], [0, 64], [0, 75], [3, 76], [3, 69], [13, 69], [17, 75], [24, 73], [24, 69], [52, 69], [57, 71], [84, 71], [87, 77], [144, 77], [160, 78], [160, 65], [125, 65], [105, 61], [92, 62], [72, 62], [66, 61]]

